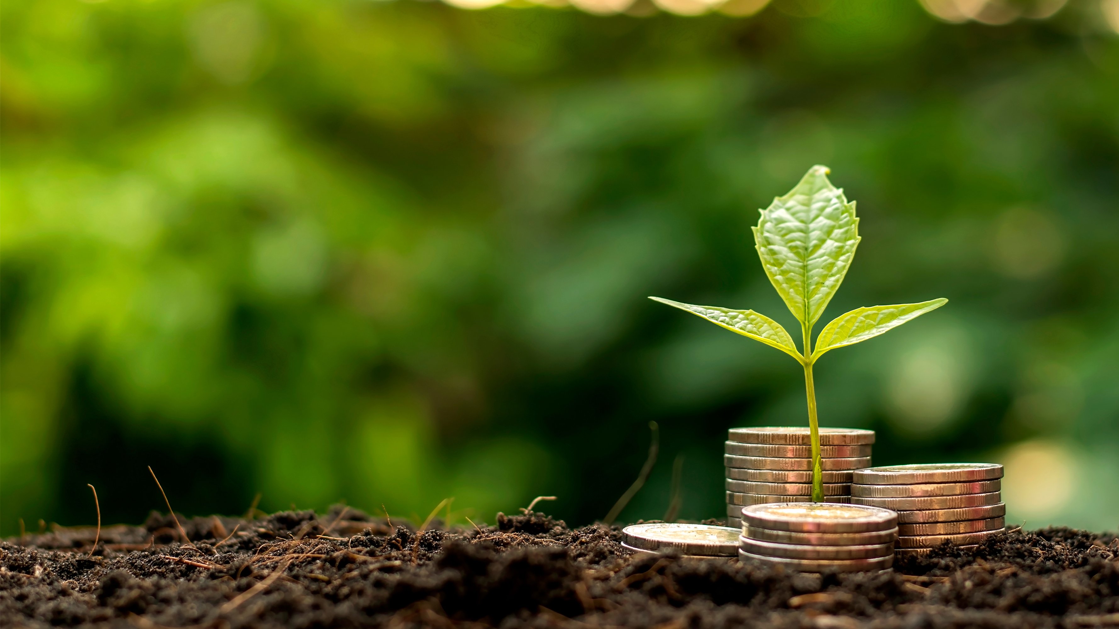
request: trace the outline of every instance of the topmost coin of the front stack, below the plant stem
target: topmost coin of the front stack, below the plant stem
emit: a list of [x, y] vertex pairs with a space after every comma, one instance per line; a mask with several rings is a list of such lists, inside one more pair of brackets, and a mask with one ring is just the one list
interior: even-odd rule
[[890, 509], [827, 503], [754, 505], [742, 509], [742, 519], [751, 528], [802, 533], [863, 533], [897, 526], [897, 514]]

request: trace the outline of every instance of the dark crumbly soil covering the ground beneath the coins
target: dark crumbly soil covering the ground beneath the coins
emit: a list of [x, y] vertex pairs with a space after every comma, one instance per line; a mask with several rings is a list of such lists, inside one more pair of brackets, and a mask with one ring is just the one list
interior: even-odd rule
[[0, 543], [0, 626], [1119, 625], [1119, 539], [1068, 528], [1013, 532], [974, 552], [939, 548], [893, 573], [814, 575], [631, 555], [618, 527], [571, 529], [538, 513], [419, 535], [337, 508], [182, 524], [190, 545], [153, 514], [143, 527], [103, 529], [92, 557], [91, 528]]

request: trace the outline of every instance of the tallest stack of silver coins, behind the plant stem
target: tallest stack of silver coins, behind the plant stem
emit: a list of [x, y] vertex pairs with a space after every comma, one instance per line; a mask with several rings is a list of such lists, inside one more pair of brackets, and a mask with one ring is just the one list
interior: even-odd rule
[[[850, 501], [854, 470], [871, 467], [873, 430], [821, 428], [824, 500]], [[726, 466], [726, 524], [742, 526], [742, 507], [812, 499], [812, 447], [808, 428], [731, 429]]]

